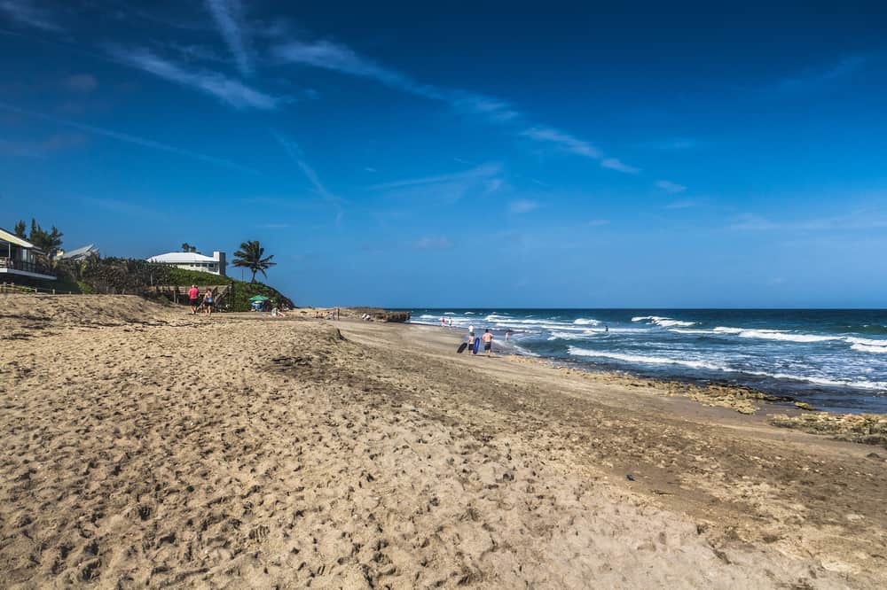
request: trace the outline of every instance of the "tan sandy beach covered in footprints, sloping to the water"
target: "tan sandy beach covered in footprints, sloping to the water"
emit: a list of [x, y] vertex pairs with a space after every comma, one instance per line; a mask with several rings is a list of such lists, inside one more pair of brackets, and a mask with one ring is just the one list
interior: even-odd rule
[[0, 586], [874, 588], [887, 450], [436, 327], [0, 297]]

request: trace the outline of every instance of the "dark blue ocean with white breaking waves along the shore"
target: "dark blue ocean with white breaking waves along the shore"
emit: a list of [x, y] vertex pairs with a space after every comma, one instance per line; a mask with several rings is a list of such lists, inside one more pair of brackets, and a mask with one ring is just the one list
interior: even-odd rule
[[[414, 309], [490, 329], [509, 352], [592, 370], [743, 384], [839, 412], [887, 414], [887, 310]], [[508, 343], [506, 330], [511, 330]]]

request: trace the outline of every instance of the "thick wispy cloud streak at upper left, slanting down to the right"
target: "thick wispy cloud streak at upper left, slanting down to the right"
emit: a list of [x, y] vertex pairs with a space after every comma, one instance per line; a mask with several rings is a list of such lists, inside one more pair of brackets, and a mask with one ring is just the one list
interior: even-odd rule
[[277, 107], [280, 99], [271, 97], [259, 90], [227, 78], [215, 72], [189, 72], [181, 66], [154, 55], [145, 49], [123, 50], [110, 47], [109, 52], [114, 58], [126, 66], [153, 74], [163, 80], [175, 82], [224, 102], [236, 109], [255, 108], [270, 110]]

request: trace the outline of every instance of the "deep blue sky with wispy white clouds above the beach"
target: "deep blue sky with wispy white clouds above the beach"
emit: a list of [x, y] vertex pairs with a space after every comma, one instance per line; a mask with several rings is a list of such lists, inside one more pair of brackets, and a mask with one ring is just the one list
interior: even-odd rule
[[304, 305], [887, 307], [883, 6], [275, 4], [0, 0], [0, 226], [258, 239]]

